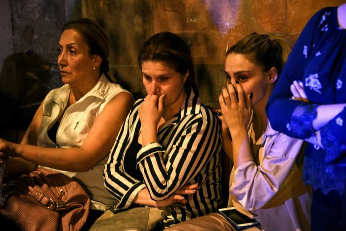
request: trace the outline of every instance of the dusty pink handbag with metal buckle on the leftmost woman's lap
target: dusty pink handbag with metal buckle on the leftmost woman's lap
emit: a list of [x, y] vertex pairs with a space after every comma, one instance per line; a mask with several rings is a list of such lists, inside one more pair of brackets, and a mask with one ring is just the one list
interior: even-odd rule
[[72, 178], [36, 168], [2, 187], [6, 198], [0, 214], [22, 230], [80, 230], [89, 214], [90, 198]]

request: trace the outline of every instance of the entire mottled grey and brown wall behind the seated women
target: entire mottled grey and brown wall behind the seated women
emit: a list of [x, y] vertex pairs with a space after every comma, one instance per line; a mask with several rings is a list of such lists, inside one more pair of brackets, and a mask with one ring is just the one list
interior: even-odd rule
[[[56, 45], [66, 21], [89, 17], [107, 32], [119, 83], [142, 97], [137, 65], [143, 42], [171, 31], [189, 44], [203, 103], [217, 106], [226, 47], [251, 32], [299, 36], [320, 8], [344, 0], [2, 0], [0, 129], [22, 130], [49, 89], [60, 86]], [[0, 134], [1, 136], [1, 134]]]

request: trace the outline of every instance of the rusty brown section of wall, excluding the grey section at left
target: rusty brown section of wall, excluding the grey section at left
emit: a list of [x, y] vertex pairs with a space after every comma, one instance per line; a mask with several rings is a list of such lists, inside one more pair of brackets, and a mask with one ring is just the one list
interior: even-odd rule
[[218, 106], [218, 95], [225, 84], [222, 70], [227, 46], [252, 32], [281, 33], [295, 40], [318, 9], [342, 3], [343, 0], [85, 0], [81, 11], [82, 17], [98, 21], [109, 33], [113, 74], [135, 97], [145, 94], [136, 62], [140, 45], [154, 33], [171, 31], [183, 37], [191, 48], [202, 102]]

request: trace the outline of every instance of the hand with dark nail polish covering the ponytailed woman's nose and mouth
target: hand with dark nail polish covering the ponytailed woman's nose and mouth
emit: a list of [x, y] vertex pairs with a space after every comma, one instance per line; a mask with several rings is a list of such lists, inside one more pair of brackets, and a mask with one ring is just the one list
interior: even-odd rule
[[240, 84], [237, 84], [236, 88], [237, 92], [234, 86], [228, 83], [227, 89], [222, 88], [219, 97], [222, 115], [231, 136], [237, 135], [241, 131], [247, 131], [247, 125], [251, 116], [252, 94], [246, 97]]

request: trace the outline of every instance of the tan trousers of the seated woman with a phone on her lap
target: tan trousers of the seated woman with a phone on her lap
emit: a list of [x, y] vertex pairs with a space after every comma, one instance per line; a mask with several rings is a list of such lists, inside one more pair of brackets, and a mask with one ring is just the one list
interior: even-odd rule
[[[180, 224], [173, 225], [165, 231], [188, 231], [188, 230], [198, 230], [198, 231], [225, 231], [236, 229], [226, 220], [224, 216], [219, 213], [210, 213], [208, 215], [200, 216], [188, 221], [184, 221]], [[252, 228], [245, 229], [246, 231], [258, 231], [262, 230], [261, 226], [256, 226]]]

